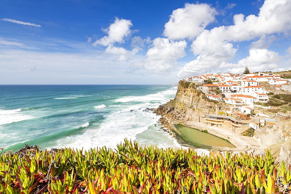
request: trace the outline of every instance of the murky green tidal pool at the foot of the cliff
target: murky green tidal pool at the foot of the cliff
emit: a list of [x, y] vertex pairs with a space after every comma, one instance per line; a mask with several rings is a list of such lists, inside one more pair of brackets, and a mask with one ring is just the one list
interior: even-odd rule
[[175, 128], [180, 131], [187, 139], [194, 143], [203, 144], [207, 146], [219, 146], [227, 148], [236, 148], [233, 144], [226, 140], [223, 140], [215, 135], [194, 129], [191, 127], [186, 127], [184, 125], [174, 125]]

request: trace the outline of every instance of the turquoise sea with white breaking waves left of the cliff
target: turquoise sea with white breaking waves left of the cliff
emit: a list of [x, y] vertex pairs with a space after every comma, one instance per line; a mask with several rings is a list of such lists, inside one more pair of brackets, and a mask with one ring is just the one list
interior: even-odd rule
[[143, 111], [175, 97], [172, 85], [0, 85], [0, 147], [115, 148], [123, 138], [141, 146], [180, 147]]

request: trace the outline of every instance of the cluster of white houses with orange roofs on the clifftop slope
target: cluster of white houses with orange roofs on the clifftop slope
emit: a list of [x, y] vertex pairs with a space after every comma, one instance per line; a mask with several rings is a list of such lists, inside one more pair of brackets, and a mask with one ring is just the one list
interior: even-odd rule
[[[267, 82], [278, 91], [290, 91], [290, 79], [281, 79], [280, 75], [269, 73], [211, 73], [200, 76], [192, 76], [182, 79], [198, 85], [207, 98], [227, 104], [226, 109], [216, 111], [217, 114], [205, 114], [205, 124], [242, 131], [247, 128], [258, 130], [268, 124], [275, 124], [276, 120], [290, 119], [291, 112], [277, 110], [276, 114], [255, 114], [255, 108], [270, 109], [260, 104], [269, 100], [267, 91], [260, 83]], [[204, 84], [206, 83], [206, 84]], [[263, 137], [260, 138], [260, 141]]]

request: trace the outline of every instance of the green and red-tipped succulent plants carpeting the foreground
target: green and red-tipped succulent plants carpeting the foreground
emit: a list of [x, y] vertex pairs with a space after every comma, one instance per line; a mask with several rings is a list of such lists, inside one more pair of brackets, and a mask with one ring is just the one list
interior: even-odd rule
[[[125, 139], [113, 151], [70, 148], [0, 157], [1, 193], [284, 193], [291, 166], [265, 155], [139, 147]], [[283, 186], [286, 187], [283, 188]], [[288, 185], [288, 186], [287, 186]]]

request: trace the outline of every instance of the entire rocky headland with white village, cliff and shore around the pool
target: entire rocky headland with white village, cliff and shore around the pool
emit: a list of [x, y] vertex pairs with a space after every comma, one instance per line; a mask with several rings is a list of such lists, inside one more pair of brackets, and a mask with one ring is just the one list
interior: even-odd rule
[[284, 72], [211, 73], [184, 78], [178, 83], [175, 98], [155, 113], [162, 116], [161, 124], [181, 144], [191, 145], [191, 141], [187, 137], [184, 141], [184, 134], [175, 128], [177, 124], [207, 131], [236, 147], [205, 149], [259, 154], [271, 148], [280, 159], [291, 163], [290, 78]]

